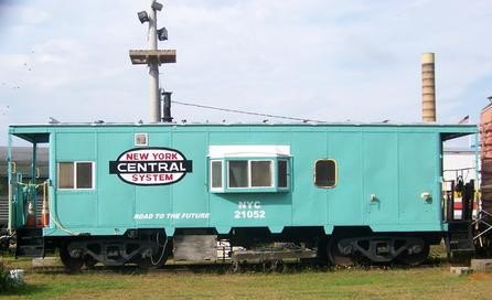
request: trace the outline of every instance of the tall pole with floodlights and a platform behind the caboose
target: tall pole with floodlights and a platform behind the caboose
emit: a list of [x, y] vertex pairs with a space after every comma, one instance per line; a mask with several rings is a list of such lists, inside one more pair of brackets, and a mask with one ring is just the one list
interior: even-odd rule
[[[162, 28], [157, 30], [157, 11], [162, 10], [162, 4], [156, 0], [150, 0], [147, 11], [138, 12], [138, 19], [143, 24], [149, 22], [149, 50], [130, 50], [130, 60], [133, 65], [146, 64], [149, 66], [150, 75], [150, 122], [161, 120], [161, 100], [159, 89], [159, 66], [161, 64], [172, 64], [177, 62], [175, 50], [159, 50], [159, 41], [168, 40], [168, 30]], [[169, 119], [169, 118], [167, 118]], [[171, 118], [172, 119], [172, 118]]]

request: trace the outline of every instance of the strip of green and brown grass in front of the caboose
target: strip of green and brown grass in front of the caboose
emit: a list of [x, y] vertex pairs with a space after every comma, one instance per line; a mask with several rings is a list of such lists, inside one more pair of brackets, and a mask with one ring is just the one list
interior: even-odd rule
[[25, 269], [26, 285], [2, 299], [490, 299], [492, 274], [450, 274], [449, 265], [300, 270], [290, 274], [205, 271], [138, 272], [135, 269], [67, 275], [33, 269], [30, 260], [6, 258]]

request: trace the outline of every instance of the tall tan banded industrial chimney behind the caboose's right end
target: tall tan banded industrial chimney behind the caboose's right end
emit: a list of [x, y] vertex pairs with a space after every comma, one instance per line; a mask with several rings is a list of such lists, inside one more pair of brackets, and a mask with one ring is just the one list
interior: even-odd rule
[[436, 77], [434, 53], [421, 54], [423, 65], [423, 121], [436, 121]]

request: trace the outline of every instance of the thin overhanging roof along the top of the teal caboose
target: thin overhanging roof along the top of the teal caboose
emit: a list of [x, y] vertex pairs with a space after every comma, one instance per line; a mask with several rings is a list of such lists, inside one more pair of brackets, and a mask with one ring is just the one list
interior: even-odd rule
[[121, 124], [121, 122], [85, 122], [85, 124], [45, 124], [45, 125], [11, 125], [9, 127], [9, 133], [22, 138], [30, 142], [49, 142], [51, 132], [65, 131], [71, 128], [74, 131], [79, 129], [86, 130], [100, 130], [103, 128], [402, 128], [416, 131], [431, 131], [441, 133], [442, 140], [456, 139], [459, 137], [472, 135], [478, 132], [477, 125], [461, 125], [461, 124], [396, 124], [396, 122], [295, 122], [295, 124], [204, 124], [204, 122], [190, 122], [190, 124]]

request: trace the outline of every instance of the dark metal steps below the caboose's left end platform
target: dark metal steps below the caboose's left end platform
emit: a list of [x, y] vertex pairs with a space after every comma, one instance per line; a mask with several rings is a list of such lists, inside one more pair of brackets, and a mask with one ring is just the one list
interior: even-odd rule
[[41, 228], [20, 228], [15, 235], [15, 257], [44, 256], [44, 238]]

